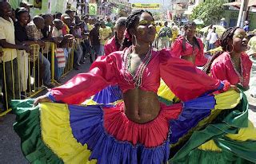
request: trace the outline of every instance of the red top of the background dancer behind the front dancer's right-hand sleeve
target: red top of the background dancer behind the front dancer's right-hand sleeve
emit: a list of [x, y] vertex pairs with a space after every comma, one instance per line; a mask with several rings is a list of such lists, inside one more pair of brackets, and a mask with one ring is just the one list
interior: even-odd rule
[[194, 46], [193, 50], [193, 45], [190, 45], [187, 41], [185, 42], [185, 47], [186, 49], [182, 49], [183, 45], [183, 39], [184, 37], [178, 37], [174, 41], [174, 45], [172, 46], [172, 55], [173, 57], [178, 57], [181, 58], [182, 56], [190, 56], [194, 55], [195, 56], [195, 65], [196, 66], [202, 66], [207, 63], [207, 58], [203, 55], [203, 44], [201, 39], [197, 38], [198, 43], [200, 45], [200, 49], [198, 46]]

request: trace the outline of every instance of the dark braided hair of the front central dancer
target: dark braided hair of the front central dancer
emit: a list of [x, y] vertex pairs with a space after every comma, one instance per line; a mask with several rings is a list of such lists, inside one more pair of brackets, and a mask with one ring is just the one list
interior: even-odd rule
[[[139, 17], [142, 15], [142, 13], [150, 14], [153, 18], [153, 15], [148, 10], [134, 10], [126, 19], [126, 28], [127, 32], [129, 34], [129, 37], [131, 38], [131, 34], [129, 33], [129, 29], [134, 29], [135, 25], [137, 24]], [[124, 41], [122, 42], [122, 48], [125, 49], [126, 47], [130, 47], [132, 45], [132, 42], [130, 41], [130, 38], [125, 37]]]

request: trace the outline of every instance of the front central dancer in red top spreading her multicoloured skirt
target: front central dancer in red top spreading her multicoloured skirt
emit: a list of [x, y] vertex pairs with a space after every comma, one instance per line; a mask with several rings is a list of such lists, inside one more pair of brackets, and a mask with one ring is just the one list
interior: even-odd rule
[[[225, 92], [228, 82], [214, 80], [166, 49], [151, 49], [156, 32], [150, 12], [135, 10], [126, 28], [130, 48], [98, 57], [90, 72], [39, 97], [36, 107], [33, 100], [13, 102], [14, 130], [26, 158], [48, 163], [166, 163], [170, 152], [177, 152], [173, 148], [181, 146], [170, 162], [182, 162], [191, 150], [215, 139], [223, 152], [206, 162], [226, 163], [219, 158], [228, 155], [256, 162], [254, 141], [226, 137], [247, 126], [242, 122], [247, 104], [240, 93], [233, 88]], [[166, 106], [158, 101], [160, 78], [183, 103]], [[122, 103], [75, 105], [110, 84], [122, 89]], [[224, 93], [207, 94], [214, 91]], [[197, 157], [207, 153], [202, 150]]]

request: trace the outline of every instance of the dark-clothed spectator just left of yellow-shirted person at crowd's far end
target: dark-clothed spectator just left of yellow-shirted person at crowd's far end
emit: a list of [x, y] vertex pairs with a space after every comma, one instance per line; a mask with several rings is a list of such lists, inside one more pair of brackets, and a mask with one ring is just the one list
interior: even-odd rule
[[99, 23], [94, 25], [94, 28], [90, 31], [90, 46], [94, 50], [95, 59], [100, 54], [100, 40], [99, 40]]

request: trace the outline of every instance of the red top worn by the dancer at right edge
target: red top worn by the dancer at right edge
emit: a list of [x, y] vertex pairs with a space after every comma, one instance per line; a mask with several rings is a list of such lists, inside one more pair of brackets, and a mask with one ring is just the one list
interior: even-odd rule
[[241, 57], [242, 75], [235, 69], [234, 63], [230, 58], [230, 53], [222, 53], [211, 64], [210, 73], [214, 79], [228, 80], [230, 84], [241, 84], [242, 87], [248, 88], [250, 81], [250, 69], [252, 62], [246, 53], [242, 53]]

